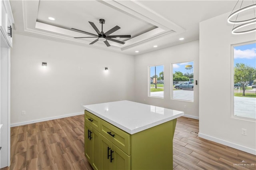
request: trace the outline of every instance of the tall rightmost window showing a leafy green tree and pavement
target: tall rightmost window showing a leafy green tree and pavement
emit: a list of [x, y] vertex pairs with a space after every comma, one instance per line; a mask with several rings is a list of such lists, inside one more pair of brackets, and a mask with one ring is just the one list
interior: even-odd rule
[[234, 116], [256, 119], [256, 42], [232, 45]]

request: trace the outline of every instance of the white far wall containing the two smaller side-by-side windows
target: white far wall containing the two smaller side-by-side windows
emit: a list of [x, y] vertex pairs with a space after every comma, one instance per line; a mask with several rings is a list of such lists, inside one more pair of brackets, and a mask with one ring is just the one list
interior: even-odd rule
[[[198, 118], [199, 42], [194, 41], [160, 49], [135, 57], [135, 99], [137, 102], [184, 111], [190, 117]], [[171, 99], [171, 63], [194, 61], [194, 102]], [[148, 66], [164, 65], [164, 99], [148, 97]], [[145, 99], [145, 101], [144, 101]], [[186, 105], [186, 109], [184, 108]]]

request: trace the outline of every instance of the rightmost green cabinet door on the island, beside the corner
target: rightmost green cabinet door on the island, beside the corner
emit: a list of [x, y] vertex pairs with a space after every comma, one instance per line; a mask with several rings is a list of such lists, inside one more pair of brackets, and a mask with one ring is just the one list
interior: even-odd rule
[[131, 158], [116, 145], [112, 144], [112, 170], [130, 170]]

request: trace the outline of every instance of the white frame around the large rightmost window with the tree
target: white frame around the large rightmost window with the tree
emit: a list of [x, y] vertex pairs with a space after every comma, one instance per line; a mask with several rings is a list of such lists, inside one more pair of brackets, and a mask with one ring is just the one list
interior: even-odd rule
[[235, 115], [235, 104], [234, 104], [234, 47], [236, 46], [241, 46], [241, 45], [246, 45], [246, 44], [251, 44], [251, 43], [256, 43], [256, 41], [250, 41], [250, 42], [243, 42], [243, 43], [236, 43], [236, 44], [231, 44], [230, 45], [230, 77], [231, 77], [231, 81], [230, 81], [230, 88], [231, 88], [231, 103], [230, 103], [230, 116], [232, 119], [239, 119], [239, 120], [243, 120], [243, 121], [250, 121], [250, 122], [256, 122], [256, 119], [253, 118], [249, 118], [249, 117], [241, 117], [241, 116], [236, 116]]

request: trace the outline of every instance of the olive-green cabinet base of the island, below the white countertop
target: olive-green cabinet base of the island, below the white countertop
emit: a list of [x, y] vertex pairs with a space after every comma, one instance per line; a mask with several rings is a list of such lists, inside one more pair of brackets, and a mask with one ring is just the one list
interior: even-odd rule
[[94, 170], [170, 170], [176, 121], [129, 134], [85, 111], [85, 156]]

